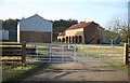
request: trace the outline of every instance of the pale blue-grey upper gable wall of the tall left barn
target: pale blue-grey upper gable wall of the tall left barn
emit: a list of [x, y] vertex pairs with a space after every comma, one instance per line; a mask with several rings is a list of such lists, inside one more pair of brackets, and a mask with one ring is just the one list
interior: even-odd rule
[[21, 31], [52, 31], [52, 23], [34, 15], [20, 22]]

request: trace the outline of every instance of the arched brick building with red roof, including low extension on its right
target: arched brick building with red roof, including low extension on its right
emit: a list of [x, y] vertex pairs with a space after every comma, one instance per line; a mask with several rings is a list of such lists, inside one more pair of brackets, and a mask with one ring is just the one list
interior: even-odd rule
[[[110, 44], [112, 36], [117, 36], [114, 32], [101, 28], [94, 22], [73, 25], [57, 37], [58, 42], [66, 43], [82, 43], [82, 44]], [[117, 37], [113, 41], [114, 44], [119, 44], [120, 38]]]

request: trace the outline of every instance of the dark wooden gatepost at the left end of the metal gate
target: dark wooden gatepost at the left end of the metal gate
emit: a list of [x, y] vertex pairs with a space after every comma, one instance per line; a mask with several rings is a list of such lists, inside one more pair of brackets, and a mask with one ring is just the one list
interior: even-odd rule
[[22, 44], [22, 65], [26, 66], [26, 42]]

